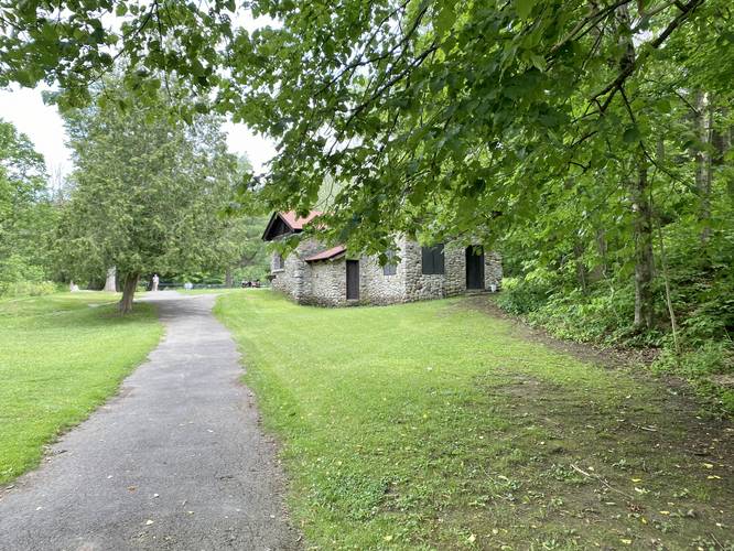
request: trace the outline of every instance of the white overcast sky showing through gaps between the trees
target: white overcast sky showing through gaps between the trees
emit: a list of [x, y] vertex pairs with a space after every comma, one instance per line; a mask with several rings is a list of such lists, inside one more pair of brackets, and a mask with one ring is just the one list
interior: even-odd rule
[[[107, 15], [110, 24], [117, 26], [114, 15]], [[267, 17], [252, 19], [249, 12], [239, 11], [234, 15], [237, 26], [248, 31], [265, 26], [278, 26], [278, 22]], [[47, 87], [0, 89], [0, 118], [12, 122], [15, 128], [26, 134], [42, 153], [50, 174], [57, 171], [68, 174], [74, 165], [71, 152], [66, 148], [66, 130], [56, 106], [44, 105], [41, 91]], [[276, 155], [273, 140], [258, 136], [245, 125], [228, 122], [224, 127], [227, 133], [229, 150], [236, 154], [247, 154], [256, 173], [265, 171], [265, 164]]]

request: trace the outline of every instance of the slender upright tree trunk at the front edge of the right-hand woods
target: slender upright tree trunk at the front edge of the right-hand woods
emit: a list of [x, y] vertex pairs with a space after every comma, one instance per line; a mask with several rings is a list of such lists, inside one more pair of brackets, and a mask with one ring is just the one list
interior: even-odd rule
[[647, 179], [647, 160], [640, 151], [637, 181], [633, 186], [633, 235], [635, 239], [635, 327], [649, 329], [652, 309], [652, 207]]

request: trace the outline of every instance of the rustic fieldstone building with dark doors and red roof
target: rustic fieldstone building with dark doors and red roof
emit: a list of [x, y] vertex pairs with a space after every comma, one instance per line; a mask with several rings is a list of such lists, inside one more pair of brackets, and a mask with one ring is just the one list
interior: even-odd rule
[[[293, 212], [274, 213], [262, 239], [274, 241], [301, 233], [319, 214], [300, 218]], [[479, 244], [421, 247], [400, 237], [396, 245], [396, 250], [387, 252], [396, 262], [380, 266], [377, 257], [357, 258], [344, 246], [330, 248], [316, 239], [303, 239], [285, 258], [272, 253], [272, 288], [300, 304], [342, 306], [441, 299], [497, 290], [501, 284], [499, 255], [485, 253]]]

